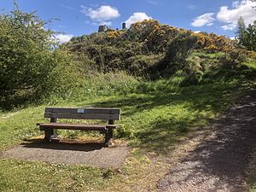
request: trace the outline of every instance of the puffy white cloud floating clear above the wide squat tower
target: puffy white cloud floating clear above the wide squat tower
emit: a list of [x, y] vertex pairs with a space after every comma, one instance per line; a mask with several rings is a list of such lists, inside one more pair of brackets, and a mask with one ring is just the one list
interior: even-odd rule
[[119, 10], [115, 9], [109, 5], [102, 5], [98, 9], [92, 9], [81, 6], [81, 12], [85, 15], [89, 16], [91, 20], [96, 21], [104, 21], [104, 20], [112, 20], [119, 17]]

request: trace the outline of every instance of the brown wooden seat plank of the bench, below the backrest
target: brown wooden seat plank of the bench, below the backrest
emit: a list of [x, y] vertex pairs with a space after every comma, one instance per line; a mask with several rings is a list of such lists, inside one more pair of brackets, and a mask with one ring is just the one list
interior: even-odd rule
[[114, 129], [118, 126], [118, 125], [88, 125], [88, 124], [66, 124], [66, 123], [42, 123], [38, 125], [41, 131], [44, 131], [45, 129], [102, 131], [108, 128]]

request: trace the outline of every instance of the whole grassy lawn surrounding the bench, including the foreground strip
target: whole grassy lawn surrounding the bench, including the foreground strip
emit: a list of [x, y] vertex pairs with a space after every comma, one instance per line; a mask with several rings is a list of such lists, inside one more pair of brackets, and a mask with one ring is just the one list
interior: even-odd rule
[[[144, 85], [143, 94], [105, 96], [90, 101], [61, 102], [56, 106], [122, 108], [122, 125], [116, 137], [129, 139], [133, 150], [120, 172], [89, 166], [51, 165], [41, 162], [0, 160], [0, 190], [73, 191], [95, 189], [133, 190], [151, 186], [167, 166], [153, 163], [147, 152], [167, 155], [177, 139], [187, 131], [204, 125], [208, 119], [227, 108], [247, 85], [241, 82], [203, 84], [184, 88], [171, 87], [160, 80]], [[38, 136], [35, 126], [44, 122], [45, 106], [1, 113], [0, 148], [5, 150], [22, 139]], [[152, 172], [153, 174], [148, 174]], [[54, 179], [52, 179], [54, 177]]]

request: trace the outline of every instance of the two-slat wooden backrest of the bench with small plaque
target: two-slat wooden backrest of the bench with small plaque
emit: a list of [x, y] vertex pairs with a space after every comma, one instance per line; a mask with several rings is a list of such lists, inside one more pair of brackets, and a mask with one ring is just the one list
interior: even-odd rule
[[44, 118], [119, 120], [120, 108], [45, 108]]

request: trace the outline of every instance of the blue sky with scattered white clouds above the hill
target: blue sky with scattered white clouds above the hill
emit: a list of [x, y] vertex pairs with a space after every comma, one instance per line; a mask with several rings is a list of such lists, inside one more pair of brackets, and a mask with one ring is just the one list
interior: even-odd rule
[[[53, 20], [48, 26], [61, 42], [73, 36], [96, 32], [98, 25], [106, 23], [120, 28], [137, 20], [152, 18], [160, 23], [201, 32], [234, 37], [236, 20], [242, 16], [246, 24], [256, 20], [256, 3], [246, 0], [17, 0], [26, 12], [37, 10], [44, 20]], [[11, 0], [0, 0], [0, 9], [14, 8]]]

